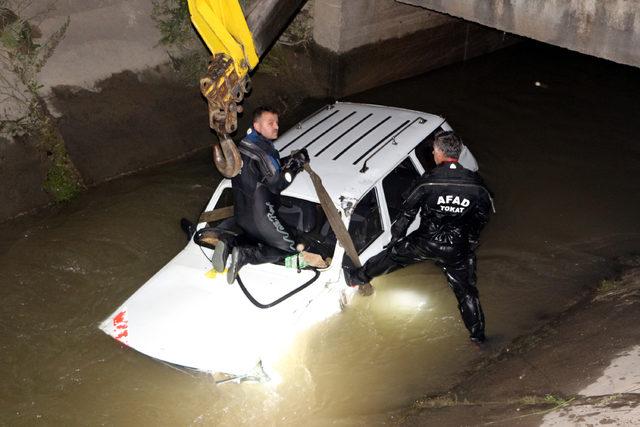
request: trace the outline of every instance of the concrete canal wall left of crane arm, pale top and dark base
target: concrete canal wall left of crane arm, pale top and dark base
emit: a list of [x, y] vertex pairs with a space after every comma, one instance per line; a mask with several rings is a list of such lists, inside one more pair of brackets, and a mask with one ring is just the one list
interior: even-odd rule
[[[85, 184], [211, 144], [214, 136], [198, 87], [187, 88], [163, 71], [170, 58], [159, 46], [151, 1], [33, 0], [15, 5], [21, 16], [33, 17], [30, 21], [45, 37], [70, 19], [38, 80]], [[0, 138], [0, 221], [52, 201], [42, 188], [49, 160], [37, 141]]]

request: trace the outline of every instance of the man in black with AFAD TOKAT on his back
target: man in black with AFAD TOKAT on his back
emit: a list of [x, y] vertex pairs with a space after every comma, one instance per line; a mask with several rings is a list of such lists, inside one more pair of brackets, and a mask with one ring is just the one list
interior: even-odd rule
[[[484, 314], [476, 288], [476, 257], [480, 231], [489, 221], [493, 201], [480, 176], [460, 166], [462, 142], [442, 131], [433, 143], [436, 167], [424, 174], [406, 197], [402, 215], [392, 225], [386, 249], [354, 271], [348, 283], [358, 286], [407, 265], [434, 260], [444, 271], [462, 320], [474, 342], [483, 342]], [[420, 210], [420, 227], [404, 237]]]

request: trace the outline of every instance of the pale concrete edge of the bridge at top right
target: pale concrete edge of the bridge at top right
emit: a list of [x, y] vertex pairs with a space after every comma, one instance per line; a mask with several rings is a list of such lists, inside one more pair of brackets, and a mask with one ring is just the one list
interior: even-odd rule
[[398, 0], [640, 67], [640, 0]]

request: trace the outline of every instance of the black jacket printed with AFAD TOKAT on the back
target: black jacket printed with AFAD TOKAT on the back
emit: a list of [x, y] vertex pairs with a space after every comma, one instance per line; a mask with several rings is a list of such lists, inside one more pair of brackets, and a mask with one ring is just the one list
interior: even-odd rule
[[493, 200], [480, 175], [457, 162], [444, 162], [418, 179], [401, 209], [391, 229], [394, 238], [404, 236], [420, 210], [421, 236], [441, 246], [473, 249]]

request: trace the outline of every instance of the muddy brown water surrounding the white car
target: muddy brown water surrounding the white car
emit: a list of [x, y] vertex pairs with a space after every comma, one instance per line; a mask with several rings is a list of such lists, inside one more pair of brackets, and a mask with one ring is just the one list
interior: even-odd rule
[[370, 425], [446, 390], [640, 252], [638, 99], [640, 71], [536, 45], [351, 98], [442, 114], [478, 158], [498, 211], [478, 251], [487, 352], [428, 263], [301, 337], [277, 386], [216, 386], [99, 332], [184, 245], [208, 156], [0, 225], [0, 424]]

